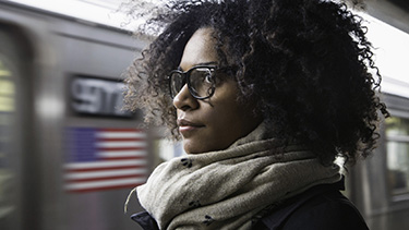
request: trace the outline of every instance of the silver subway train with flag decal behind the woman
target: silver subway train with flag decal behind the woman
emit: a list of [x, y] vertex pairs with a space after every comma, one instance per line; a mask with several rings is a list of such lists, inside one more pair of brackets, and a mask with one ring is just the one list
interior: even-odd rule
[[[141, 112], [121, 110], [122, 73], [148, 43], [0, 2], [0, 229], [139, 229], [135, 197], [123, 211], [130, 191], [181, 154]], [[392, 117], [373, 156], [347, 170], [345, 194], [373, 230], [409, 229], [408, 82], [384, 76]]]

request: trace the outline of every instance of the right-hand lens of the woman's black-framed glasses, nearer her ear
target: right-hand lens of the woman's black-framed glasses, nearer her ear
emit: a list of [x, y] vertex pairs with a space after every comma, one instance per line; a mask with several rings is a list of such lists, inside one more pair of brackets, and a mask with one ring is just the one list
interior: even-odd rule
[[195, 97], [208, 97], [214, 90], [214, 76], [209, 68], [196, 68], [190, 73], [191, 94]]

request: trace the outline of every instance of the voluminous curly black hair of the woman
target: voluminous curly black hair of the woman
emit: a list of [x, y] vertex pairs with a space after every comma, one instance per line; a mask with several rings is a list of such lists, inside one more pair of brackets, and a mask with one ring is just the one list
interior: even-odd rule
[[[154, 11], [151, 11], [154, 12]], [[143, 13], [142, 13], [143, 14]], [[142, 15], [141, 14], [141, 15]], [[380, 136], [381, 75], [362, 19], [325, 0], [167, 1], [144, 29], [163, 29], [129, 68], [129, 108], [178, 138], [166, 76], [195, 31], [212, 27], [220, 65], [233, 65], [240, 101], [256, 101], [275, 136], [309, 146], [323, 164], [366, 157]], [[145, 14], [143, 14], [145, 15]]]

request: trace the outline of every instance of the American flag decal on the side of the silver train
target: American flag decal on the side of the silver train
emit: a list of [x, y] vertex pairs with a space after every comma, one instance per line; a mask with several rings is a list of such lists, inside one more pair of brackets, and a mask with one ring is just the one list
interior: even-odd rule
[[64, 189], [133, 187], [146, 180], [146, 134], [135, 129], [70, 128]]

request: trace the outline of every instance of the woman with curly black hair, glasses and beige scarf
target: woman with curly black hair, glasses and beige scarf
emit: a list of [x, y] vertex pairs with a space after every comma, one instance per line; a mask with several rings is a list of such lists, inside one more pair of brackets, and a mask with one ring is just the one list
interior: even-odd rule
[[344, 4], [177, 1], [130, 68], [128, 105], [187, 156], [136, 187], [144, 229], [368, 229], [334, 164], [374, 148], [371, 44]]

